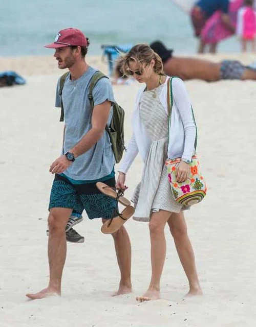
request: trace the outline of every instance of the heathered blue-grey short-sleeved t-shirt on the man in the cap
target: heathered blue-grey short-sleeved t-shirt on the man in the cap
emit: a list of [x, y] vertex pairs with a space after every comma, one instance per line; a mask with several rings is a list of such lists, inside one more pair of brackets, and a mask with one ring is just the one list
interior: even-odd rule
[[[75, 81], [68, 74], [62, 89], [64, 121], [66, 125], [62, 153], [66, 153], [77, 144], [91, 129], [92, 109], [88, 99], [91, 78], [96, 72], [89, 67], [86, 73]], [[109, 100], [114, 102], [111, 83], [108, 78], [100, 79], [93, 89], [94, 106]], [[59, 96], [59, 80], [56, 90], [56, 107], [61, 107]], [[110, 123], [112, 110], [109, 116]], [[113, 171], [115, 157], [112, 151], [108, 133], [105, 131], [99, 141], [86, 153], [76, 158], [73, 164], [64, 172], [65, 175], [76, 180], [94, 180], [109, 175]]]

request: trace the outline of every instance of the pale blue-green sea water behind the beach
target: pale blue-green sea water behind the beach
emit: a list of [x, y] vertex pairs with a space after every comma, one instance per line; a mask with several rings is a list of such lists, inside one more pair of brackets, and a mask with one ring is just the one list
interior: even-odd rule
[[[157, 39], [175, 53], [196, 52], [189, 17], [171, 0], [0, 0], [0, 56], [52, 54], [43, 46], [67, 27], [90, 38], [92, 55], [101, 44]], [[223, 41], [219, 51], [239, 52], [238, 41]]]

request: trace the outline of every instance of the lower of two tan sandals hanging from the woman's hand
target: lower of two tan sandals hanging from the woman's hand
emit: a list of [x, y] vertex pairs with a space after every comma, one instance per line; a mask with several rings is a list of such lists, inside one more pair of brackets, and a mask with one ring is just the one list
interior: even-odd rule
[[123, 209], [121, 214], [117, 214], [115, 218], [108, 219], [101, 227], [104, 234], [112, 234], [117, 231], [129, 218], [133, 216], [135, 209], [129, 205]]

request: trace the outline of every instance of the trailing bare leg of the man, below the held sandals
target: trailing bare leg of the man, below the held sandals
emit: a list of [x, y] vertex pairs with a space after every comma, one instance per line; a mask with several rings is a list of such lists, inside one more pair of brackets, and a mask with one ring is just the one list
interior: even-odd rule
[[[106, 220], [102, 219], [104, 223]], [[115, 233], [112, 234], [118, 266], [120, 269], [119, 289], [113, 296], [128, 294], [132, 292], [131, 282], [131, 265], [132, 265], [132, 250], [129, 235], [124, 226], [121, 226]]]

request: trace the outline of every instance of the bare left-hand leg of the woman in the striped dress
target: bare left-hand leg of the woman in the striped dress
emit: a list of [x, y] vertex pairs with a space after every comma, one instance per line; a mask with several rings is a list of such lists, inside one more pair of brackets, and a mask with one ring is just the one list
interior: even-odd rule
[[166, 240], [164, 235], [164, 226], [168, 221], [170, 215], [168, 211], [160, 210], [158, 213], [153, 213], [150, 227], [151, 239], [151, 267], [152, 275], [150, 286], [146, 293], [142, 296], [137, 296], [136, 300], [139, 302], [157, 300], [160, 298], [160, 278], [163, 271], [163, 265], [166, 256]]

